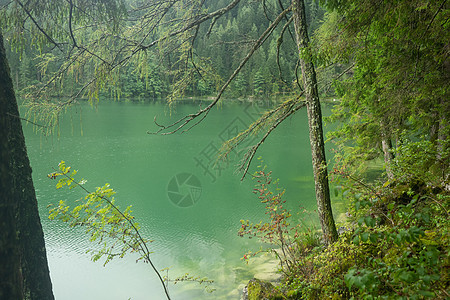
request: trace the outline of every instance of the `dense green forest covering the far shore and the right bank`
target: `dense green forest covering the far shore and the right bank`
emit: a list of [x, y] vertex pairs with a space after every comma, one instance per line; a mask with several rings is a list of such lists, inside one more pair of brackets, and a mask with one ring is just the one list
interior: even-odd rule
[[[269, 219], [243, 220], [239, 235], [271, 243], [283, 278], [276, 287], [252, 280], [248, 299], [450, 297], [447, 1], [11, 2], [0, 7], [0, 28], [32, 121], [54, 125], [46, 114], [80, 97], [214, 99], [160, 126], [173, 134], [199, 124], [222, 95], [279, 98], [221, 149], [226, 158], [261, 136], [245, 154], [246, 172], [267, 135], [306, 107], [322, 230], [299, 232], [270, 172], [255, 173]], [[322, 155], [316, 105], [326, 97], [337, 99], [326, 120], [337, 126], [326, 137], [333, 165]], [[61, 185], [75, 180], [65, 165], [51, 176], [62, 176]], [[90, 197], [109, 197], [101, 192]], [[330, 192], [350, 203], [338, 226]], [[67, 221], [69, 208], [59, 209]]]

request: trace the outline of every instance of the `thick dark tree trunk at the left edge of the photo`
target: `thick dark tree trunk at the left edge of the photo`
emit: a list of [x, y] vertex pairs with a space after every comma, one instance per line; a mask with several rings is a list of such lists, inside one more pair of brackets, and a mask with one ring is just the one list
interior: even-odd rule
[[10, 199], [16, 209], [14, 218], [19, 241], [23, 298], [32, 300], [54, 299], [45, 251], [44, 233], [31, 179], [31, 167], [1, 34], [0, 99], [2, 123], [4, 123], [6, 130], [6, 135], [2, 135], [1, 140], [2, 143], [6, 141], [8, 147], [8, 156], [5, 157], [7, 161], [3, 162], [4, 157], [2, 157], [2, 165], [6, 164], [8, 171], [4, 173], [2, 170], [2, 177], [4, 177], [4, 174], [9, 177]]

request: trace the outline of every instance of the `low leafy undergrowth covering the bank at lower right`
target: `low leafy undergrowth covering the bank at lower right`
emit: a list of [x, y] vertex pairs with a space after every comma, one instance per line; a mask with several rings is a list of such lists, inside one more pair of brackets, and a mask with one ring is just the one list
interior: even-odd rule
[[339, 185], [338, 195], [351, 201], [348, 219], [336, 243], [297, 258], [302, 264], [296, 264], [279, 287], [285, 295], [296, 295], [295, 299], [448, 297], [450, 195], [440, 172], [422, 172], [423, 164], [435, 162], [435, 153], [427, 153], [426, 148], [415, 152], [419, 145], [429, 143], [405, 140], [405, 147], [398, 148], [401, 153], [396, 153], [396, 164], [401, 166], [395, 169], [396, 177], [381, 183], [364, 182], [339, 162], [333, 174], [340, 180], [334, 182]]

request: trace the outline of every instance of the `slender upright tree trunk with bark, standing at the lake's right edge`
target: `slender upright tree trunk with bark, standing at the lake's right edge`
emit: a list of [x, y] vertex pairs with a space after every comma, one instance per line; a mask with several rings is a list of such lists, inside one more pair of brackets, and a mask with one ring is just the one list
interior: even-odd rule
[[308, 112], [309, 139], [312, 151], [314, 182], [316, 189], [317, 210], [326, 244], [337, 240], [338, 234], [331, 210], [330, 188], [328, 186], [327, 161], [322, 129], [322, 111], [314, 65], [309, 55], [309, 37], [306, 25], [305, 3], [292, 0], [295, 35], [300, 55], [303, 86], [305, 89], [306, 109]]

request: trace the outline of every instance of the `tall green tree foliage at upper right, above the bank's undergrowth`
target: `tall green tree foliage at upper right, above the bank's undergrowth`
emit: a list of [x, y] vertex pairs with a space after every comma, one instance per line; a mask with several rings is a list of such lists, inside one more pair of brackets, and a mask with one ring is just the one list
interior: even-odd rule
[[318, 30], [317, 47], [323, 49], [318, 57], [353, 66], [335, 83], [341, 101], [331, 120], [341, 124], [330, 136], [346, 148], [348, 163], [384, 155], [388, 171], [393, 166], [386, 157], [406, 139], [432, 143], [424, 145], [427, 151], [442, 152], [436, 154], [448, 161], [448, 145], [439, 142], [449, 133], [444, 4], [327, 1], [334, 10]]

